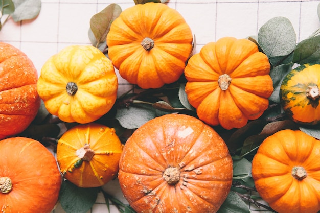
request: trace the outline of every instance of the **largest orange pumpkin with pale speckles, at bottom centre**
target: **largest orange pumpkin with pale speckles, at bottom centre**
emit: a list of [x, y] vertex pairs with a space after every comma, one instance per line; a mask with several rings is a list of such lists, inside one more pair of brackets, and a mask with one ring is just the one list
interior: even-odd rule
[[224, 141], [190, 115], [166, 114], [142, 125], [119, 165], [121, 190], [138, 213], [217, 212], [232, 184]]

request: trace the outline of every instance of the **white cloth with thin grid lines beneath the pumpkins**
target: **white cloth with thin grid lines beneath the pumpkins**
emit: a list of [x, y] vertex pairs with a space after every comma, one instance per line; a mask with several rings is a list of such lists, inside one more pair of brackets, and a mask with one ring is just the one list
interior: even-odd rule
[[[245, 38], [258, 34], [259, 28], [276, 16], [288, 18], [296, 32], [297, 41], [306, 39], [320, 28], [314, 0], [170, 0], [168, 6], [176, 9], [190, 25], [196, 36], [196, 52], [201, 47], [224, 36]], [[117, 3], [122, 10], [134, 5], [133, 0], [42, 0], [39, 16], [33, 20], [14, 22], [11, 18], [0, 31], [0, 41], [10, 43], [25, 52], [34, 62], [38, 73], [48, 58], [71, 44], [90, 44], [90, 18]], [[119, 92], [132, 85], [119, 75]], [[126, 202], [119, 183], [113, 180], [103, 186], [111, 195]], [[252, 212], [261, 212], [250, 206]], [[111, 213], [119, 211], [113, 205]], [[100, 193], [96, 204], [88, 212], [108, 212]], [[53, 213], [64, 213], [60, 205]]]

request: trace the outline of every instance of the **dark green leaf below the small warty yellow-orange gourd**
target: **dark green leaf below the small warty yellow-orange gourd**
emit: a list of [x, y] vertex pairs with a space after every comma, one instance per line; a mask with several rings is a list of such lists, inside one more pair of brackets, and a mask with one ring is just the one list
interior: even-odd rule
[[80, 188], [68, 180], [62, 182], [59, 201], [66, 213], [86, 213], [95, 203], [98, 188]]

